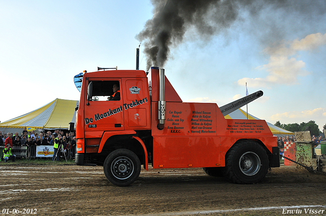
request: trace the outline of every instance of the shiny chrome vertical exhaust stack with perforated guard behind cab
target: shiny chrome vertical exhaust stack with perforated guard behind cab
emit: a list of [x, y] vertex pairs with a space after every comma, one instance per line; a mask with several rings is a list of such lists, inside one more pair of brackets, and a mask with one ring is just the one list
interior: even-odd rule
[[165, 102], [165, 70], [159, 69], [159, 101], [158, 101], [158, 120], [157, 129], [164, 129], [166, 102]]

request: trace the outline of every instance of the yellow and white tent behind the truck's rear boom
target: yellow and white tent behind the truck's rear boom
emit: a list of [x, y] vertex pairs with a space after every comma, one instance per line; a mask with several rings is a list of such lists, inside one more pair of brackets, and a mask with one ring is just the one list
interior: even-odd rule
[[[247, 119], [247, 112], [243, 111], [242, 109], [237, 109], [234, 112], [231, 112], [230, 114], [228, 114], [224, 117], [227, 119]], [[259, 118], [248, 113], [248, 119], [259, 119]], [[278, 136], [278, 135], [293, 135], [294, 136], [293, 132], [279, 128], [273, 124], [270, 124], [269, 122], [267, 122], [267, 125], [268, 125], [271, 133], [273, 133], [276, 136]]]

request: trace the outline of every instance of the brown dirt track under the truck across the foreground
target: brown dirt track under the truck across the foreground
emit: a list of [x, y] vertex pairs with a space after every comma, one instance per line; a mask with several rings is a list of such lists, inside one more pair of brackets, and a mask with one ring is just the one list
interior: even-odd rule
[[283, 208], [326, 215], [326, 175], [295, 167], [274, 168], [251, 185], [210, 177], [198, 168], [150, 169], [124, 188], [108, 182], [102, 167], [9, 162], [1, 163], [0, 171], [1, 209], [33, 208], [37, 215], [282, 215]]

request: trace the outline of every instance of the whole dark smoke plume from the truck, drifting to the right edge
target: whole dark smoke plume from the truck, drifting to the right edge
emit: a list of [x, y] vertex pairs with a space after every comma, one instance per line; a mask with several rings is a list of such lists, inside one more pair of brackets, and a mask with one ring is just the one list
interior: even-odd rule
[[[258, 20], [266, 10], [283, 10], [284, 16], [288, 13], [297, 13], [299, 16], [318, 16], [325, 13], [323, 1], [296, 1], [296, 0], [152, 0], [154, 16], [147, 20], [144, 29], [136, 36], [143, 42], [147, 58], [147, 70], [151, 66], [163, 67], [169, 58], [170, 50], [184, 41], [184, 35], [189, 29], [194, 29], [202, 40], [208, 41], [212, 36], [230, 28], [235, 21], [243, 20], [239, 15], [246, 14], [253, 19], [256, 25], [263, 21]], [[244, 13], [243, 13], [244, 12]], [[258, 23], [258, 24], [257, 24]], [[254, 28], [254, 26], [253, 26]], [[284, 34], [278, 26], [271, 24], [269, 37]], [[272, 29], [273, 28], [273, 29]], [[266, 40], [263, 37], [262, 40]], [[280, 36], [279, 36], [280, 37]], [[264, 39], [263, 39], [264, 38]]]

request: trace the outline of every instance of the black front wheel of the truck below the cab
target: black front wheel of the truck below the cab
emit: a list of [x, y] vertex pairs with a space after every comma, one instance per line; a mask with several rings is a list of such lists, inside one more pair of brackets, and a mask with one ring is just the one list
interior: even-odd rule
[[141, 162], [137, 155], [128, 149], [117, 149], [104, 161], [103, 170], [108, 181], [116, 186], [129, 186], [141, 173]]

